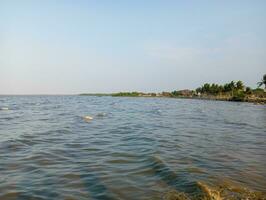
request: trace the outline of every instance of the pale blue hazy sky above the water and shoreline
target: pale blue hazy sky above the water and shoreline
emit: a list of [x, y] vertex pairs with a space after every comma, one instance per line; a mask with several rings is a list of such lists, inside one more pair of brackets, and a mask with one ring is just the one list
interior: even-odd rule
[[0, 0], [0, 94], [256, 87], [265, 10], [264, 0]]

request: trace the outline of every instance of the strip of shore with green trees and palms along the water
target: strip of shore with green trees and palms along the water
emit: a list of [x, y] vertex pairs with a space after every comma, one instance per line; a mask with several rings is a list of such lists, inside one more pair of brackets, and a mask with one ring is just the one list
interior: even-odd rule
[[[113, 97], [169, 97], [169, 98], [193, 98], [221, 101], [253, 102], [266, 104], [266, 74], [257, 83], [258, 87], [253, 89], [245, 86], [242, 81], [231, 81], [223, 85], [216, 83], [205, 83], [195, 90], [174, 90], [172, 92], [143, 93], [143, 92], [119, 92], [112, 94], [89, 94], [92, 96], [113, 96]], [[264, 86], [264, 89], [261, 87]]]

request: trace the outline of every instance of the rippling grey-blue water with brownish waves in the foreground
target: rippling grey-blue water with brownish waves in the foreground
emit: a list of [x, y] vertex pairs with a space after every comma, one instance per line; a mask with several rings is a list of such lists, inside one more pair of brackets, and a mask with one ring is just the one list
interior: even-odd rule
[[0, 199], [265, 199], [263, 105], [2, 96], [0, 108]]

